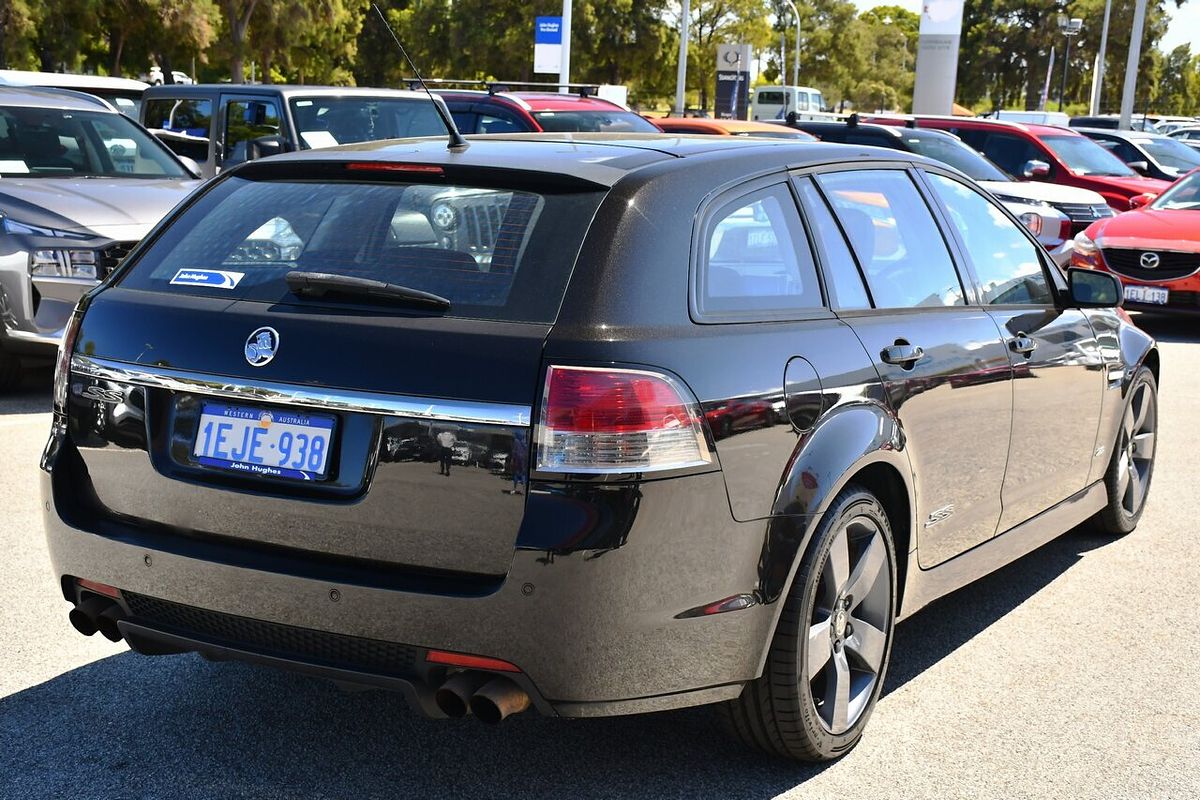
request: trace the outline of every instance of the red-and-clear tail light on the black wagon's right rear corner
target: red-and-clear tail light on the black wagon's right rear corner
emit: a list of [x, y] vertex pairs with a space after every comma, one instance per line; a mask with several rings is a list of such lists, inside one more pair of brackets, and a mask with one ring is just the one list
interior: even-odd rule
[[643, 369], [550, 367], [538, 469], [649, 473], [713, 463], [700, 404], [671, 375]]

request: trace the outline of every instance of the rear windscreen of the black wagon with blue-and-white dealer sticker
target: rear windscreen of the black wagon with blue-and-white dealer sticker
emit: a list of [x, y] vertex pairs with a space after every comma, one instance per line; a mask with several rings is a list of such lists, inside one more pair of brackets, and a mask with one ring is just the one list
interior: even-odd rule
[[[121, 287], [292, 305], [292, 271], [419, 289], [446, 315], [553, 321], [602, 193], [229, 178], [184, 212]], [[412, 313], [403, 305], [372, 307]]]

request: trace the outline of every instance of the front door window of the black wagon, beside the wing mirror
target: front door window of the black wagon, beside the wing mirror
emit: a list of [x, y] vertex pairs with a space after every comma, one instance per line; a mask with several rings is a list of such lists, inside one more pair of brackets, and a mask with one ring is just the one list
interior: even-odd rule
[[929, 174], [929, 181], [966, 245], [984, 305], [1054, 302], [1037, 246], [1003, 211], [956, 180]]

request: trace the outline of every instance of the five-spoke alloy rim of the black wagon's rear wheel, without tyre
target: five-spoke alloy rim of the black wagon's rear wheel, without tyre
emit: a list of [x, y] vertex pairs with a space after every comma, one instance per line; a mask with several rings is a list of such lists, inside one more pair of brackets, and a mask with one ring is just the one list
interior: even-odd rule
[[892, 579], [875, 521], [847, 519], [821, 571], [803, 670], [817, 716], [833, 734], [858, 722], [875, 693], [890, 634]]

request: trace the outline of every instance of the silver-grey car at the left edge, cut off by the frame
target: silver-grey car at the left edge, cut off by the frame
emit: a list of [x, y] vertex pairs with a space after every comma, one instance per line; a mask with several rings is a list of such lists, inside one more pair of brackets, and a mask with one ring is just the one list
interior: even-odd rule
[[101, 100], [0, 88], [0, 391], [53, 359], [79, 297], [198, 182]]

